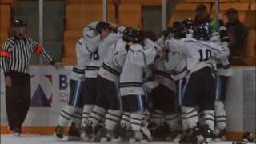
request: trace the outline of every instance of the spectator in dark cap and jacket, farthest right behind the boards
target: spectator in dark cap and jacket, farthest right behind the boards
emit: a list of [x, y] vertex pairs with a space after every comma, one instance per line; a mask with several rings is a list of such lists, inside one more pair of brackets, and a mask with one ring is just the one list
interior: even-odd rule
[[244, 64], [243, 51], [246, 48], [248, 30], [238, 18], [238, 10], [230, 8], [226, 11], [228, 22], [225, 26], [230, 35], [230, 63]]

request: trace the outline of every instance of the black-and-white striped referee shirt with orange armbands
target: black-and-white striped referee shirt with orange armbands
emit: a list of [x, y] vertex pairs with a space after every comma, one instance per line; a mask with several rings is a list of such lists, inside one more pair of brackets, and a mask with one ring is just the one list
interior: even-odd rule
[[0, 66], [5, 75], [8, 75], [10, 71], [28, 74], [32, 54], [42, 57], [52, 65], [55, 63], [43, 47], [31, 38], [11, 37], [7, 39], [0, 50]]

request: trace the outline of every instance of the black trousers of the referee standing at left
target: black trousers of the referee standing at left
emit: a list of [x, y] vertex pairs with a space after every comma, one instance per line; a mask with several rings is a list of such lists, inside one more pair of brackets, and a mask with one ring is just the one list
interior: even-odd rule
[[12, 86], [6, 86], [6, 110], [10, 130], [21, 130], [30, 108], [30, 75], [10, 72]]

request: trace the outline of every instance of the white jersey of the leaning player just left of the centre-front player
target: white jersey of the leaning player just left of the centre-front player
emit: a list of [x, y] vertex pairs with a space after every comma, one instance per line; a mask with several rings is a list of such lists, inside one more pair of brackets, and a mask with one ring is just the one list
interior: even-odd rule
[[98, 75], [112, 82], [118, 82], [122, 66], [126, 61], [126, 55], [126, 42], [120, 38], [110, 47], [108, 55], [98, 71]]

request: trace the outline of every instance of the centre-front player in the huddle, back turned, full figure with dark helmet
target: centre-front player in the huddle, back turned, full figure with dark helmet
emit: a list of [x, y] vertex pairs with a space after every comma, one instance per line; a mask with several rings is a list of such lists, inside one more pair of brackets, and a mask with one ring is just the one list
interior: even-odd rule
[[131, 142], [141, 141], [145, 135], [151, 139], [150, 132], [145, 126], [146, 94], [143, 89], [143, 70], [154, 62], [154, 58], [160, 51], [158, 51], [158, 45], [147, 41], [149, 43], [142, 40], [140, 30], [134, 30], [132, 37], [127, 39], [128, 53], [119, 80], [124, 111], [121, 121], [122, 132], [127, 134], [124, 140], [130, 138]]

